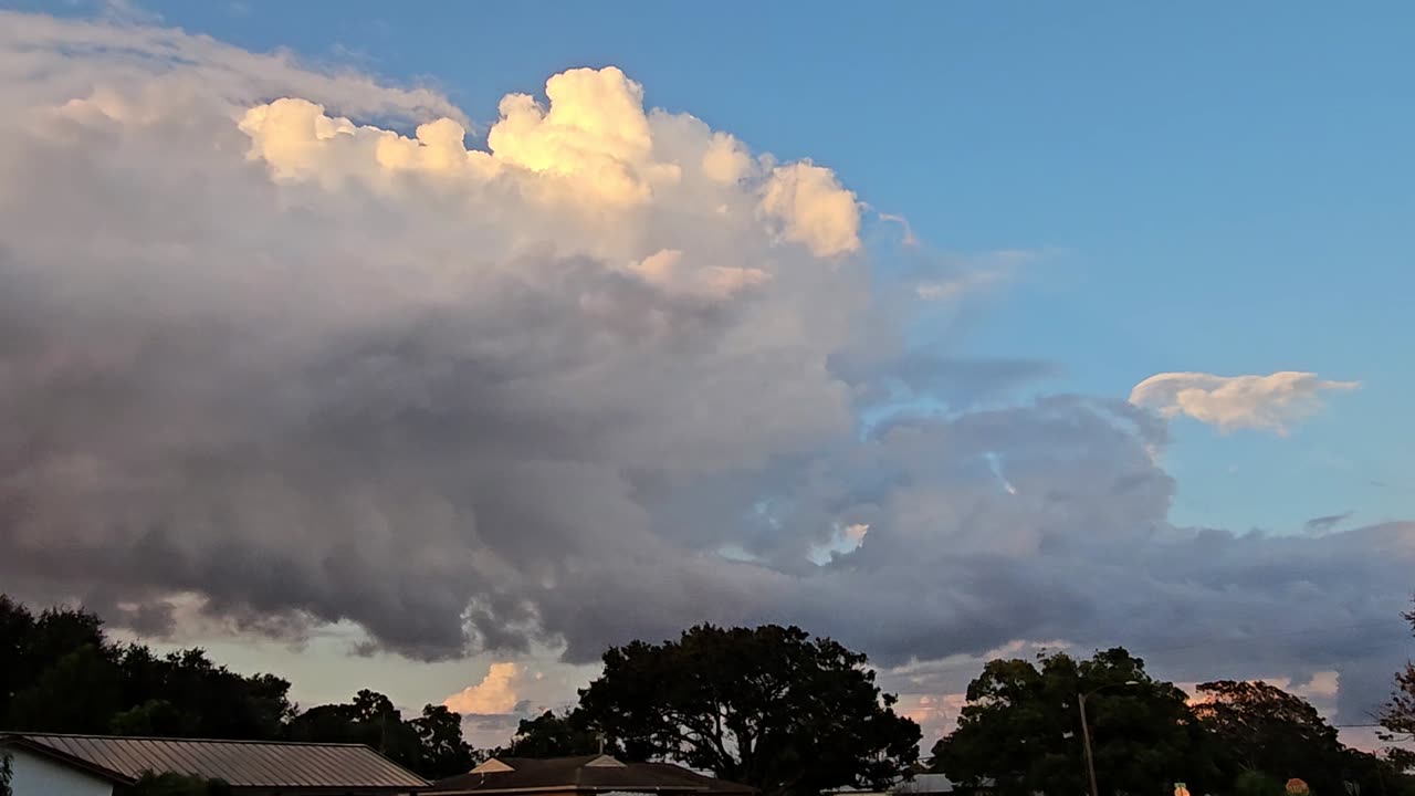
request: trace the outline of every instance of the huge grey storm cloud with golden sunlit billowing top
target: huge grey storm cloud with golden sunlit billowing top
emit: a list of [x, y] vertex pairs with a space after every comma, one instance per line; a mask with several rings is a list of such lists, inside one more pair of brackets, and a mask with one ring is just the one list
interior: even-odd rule
[[916, 280], [880, 285], [832, 171], [649, 98], [565, 72], [483, 149], [427, 89], [0, 16], [0, 582], [419, 659], [702, 620], [891, 667], [1361, 625], [1340, 661], [1252, 654], [1340, 671], [1350, 710], [1388, 677], [1415, 527], [1172, 525], [1160, 418], [911, 343]]

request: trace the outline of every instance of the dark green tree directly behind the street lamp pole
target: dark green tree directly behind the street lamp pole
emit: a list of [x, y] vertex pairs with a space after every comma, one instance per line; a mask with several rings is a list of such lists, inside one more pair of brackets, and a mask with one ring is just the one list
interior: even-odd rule
[[[1203, 793], [1215, 771], [1186, 694], [1145, 674], [1124, 649], [1077, 661], [1056, 653], [992, 660], [968, 686], [958, 728], [934, 746], [954, 782], [995, 780], [1003, 796], [1088, 790], [1078, 694], [1090, 693], [1095, 773], [1102, 793], [1159, 793], [1186, 782]], [[1126, 683], [1133, 681], [1133, 686]], [[1098, 688], [1104, 688], [1097, 691]]]

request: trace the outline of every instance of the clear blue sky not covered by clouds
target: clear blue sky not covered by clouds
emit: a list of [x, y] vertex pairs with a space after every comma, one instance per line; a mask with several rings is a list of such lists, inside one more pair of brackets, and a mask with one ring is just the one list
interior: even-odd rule
[[[567, 68], [620, 67], [651, 108], [831, 169], [872, 211], [876, 276], [910, 258], [986, 271], [1020, 252], [965, 313], [925, 303], [913, 337], [940, 356], [1050, 365], [999, 404], [1124, 401], [1173, 371], [1361, 382], [1324, 392], [1285, 435], [1173, 419], [1160, 465], [1177, 483], [1176, 525], [1300, 534], [1347, 511], [1343, 527], [1415, 516], [1409, 3], [7, 6], [140, 20], [433, 86], [471, 119], [474, 149], [505, 93], [541, 96]], [[921, 248], [903, 249], [901, 228], [877, 214], [907, 218]], [[205, 642], [337, 698], [410, 666], [342, 656], [355, 630], [317, 637], [313, 657], [219, 633]], [[536, 656], [560, 695], [583, 674]], [[436, 700], [467, 670], [427, 664], [405, 698]]]

